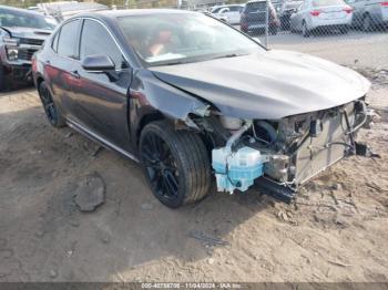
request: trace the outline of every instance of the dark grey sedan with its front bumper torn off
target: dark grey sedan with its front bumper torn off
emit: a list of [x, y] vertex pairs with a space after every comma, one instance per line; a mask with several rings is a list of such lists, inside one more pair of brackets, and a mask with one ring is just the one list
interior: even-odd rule
[[63, 22], [33, 58], [48, 120], [144, 167], [178, 207], [219, 191], [292, 198], [363, 152], [369, 82], [310, 55], [267, 50], [196, 12], [103, 11]]

